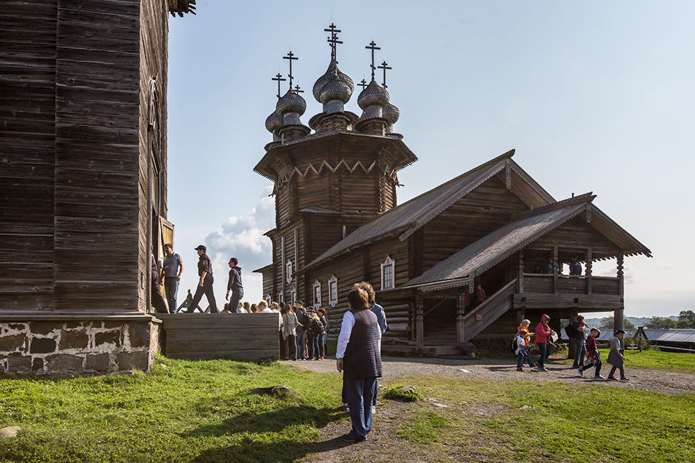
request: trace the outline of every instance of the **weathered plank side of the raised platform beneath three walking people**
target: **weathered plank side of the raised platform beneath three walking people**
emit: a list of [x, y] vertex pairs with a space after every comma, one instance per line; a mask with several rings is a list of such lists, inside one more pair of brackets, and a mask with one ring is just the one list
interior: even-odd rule
[[277, 360], [278, 314], [157, 314], [163, 353], [183, 360]]

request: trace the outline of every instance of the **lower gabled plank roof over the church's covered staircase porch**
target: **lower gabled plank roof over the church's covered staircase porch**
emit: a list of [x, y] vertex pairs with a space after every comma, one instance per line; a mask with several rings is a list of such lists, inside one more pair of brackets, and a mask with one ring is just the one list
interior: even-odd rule
[[[487, 269], [505, 260], [509, 255], [518, 252], [528, 244], [561, 226], [566, 221], [578, 216], [582, 212], [596, 211], [594, 194], [586, 193], [573, 198], [565, 199], [543, 208], [529, 211], [516, 221], [498, 228], [489, 235], [478, 239], [477, 242], [466, 246], [461, 251], [439, 262], [422, 275], [412, 278], [402, 287], [423, 287], [423, 285], [436, 285], [436, 289], [464, 285], [470, 278], [480, 275]], [[600, 213], [603, 219], [603, 212]], [[607, 216], [605, 216], [607, 218]], [[610, 219], [608, 219], [610, 220]], [[623, 237], [632, 236], [620, 228], [611, 220]], [[631, 254], [644, 254], [651, 257], [644, 244], [636, 239], [627, 248]], [[629, 254], [628, 253], [628, 254]], [[449, 282], [441, 285], [441, 282]], [[434, 286], [433, 286], [434, 287]]]

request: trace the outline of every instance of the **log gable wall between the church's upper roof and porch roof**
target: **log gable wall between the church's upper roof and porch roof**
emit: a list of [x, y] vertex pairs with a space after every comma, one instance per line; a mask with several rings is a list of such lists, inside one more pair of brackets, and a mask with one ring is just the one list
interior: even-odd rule
[[423, 228], [423, 271], [509, 223], [512, 214], [528, 207], [498, 178], [466, 194]]

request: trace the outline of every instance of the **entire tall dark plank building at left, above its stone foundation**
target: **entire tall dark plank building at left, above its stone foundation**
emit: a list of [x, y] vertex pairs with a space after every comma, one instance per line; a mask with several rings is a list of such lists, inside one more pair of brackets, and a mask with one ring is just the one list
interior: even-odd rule
[[3, 5], [0, 322], [152, 319], [149, 255], [170, 226], [168, 15], [192, 3]]

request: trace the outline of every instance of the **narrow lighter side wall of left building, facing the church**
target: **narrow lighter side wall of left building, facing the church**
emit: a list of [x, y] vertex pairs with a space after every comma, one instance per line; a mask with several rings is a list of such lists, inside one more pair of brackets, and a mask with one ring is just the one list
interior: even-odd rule
[[[147, 249], [148, 237], [153, 238], [153, 230], [158, 229], [158, 216], [167, 217], [166, 89], [169, 26], [165, 2], [141, 0], [139, 8], [138, 278], [142, 279], [144, 275], [147, 280], [149, 255], [152, 252], [152, 249]], [[148, 213], [152, 214], [149, 228]], [[153, 239], [152, 246], [156, 247], [157, 244]], [[157, 258], [163, 257], [158, 255], [158, 251], [155, 251], [155, 255]], [[138, 310], [143, 312], [147, 312], [147, 292], [147, 285], [138, 285]]]

